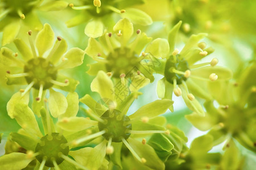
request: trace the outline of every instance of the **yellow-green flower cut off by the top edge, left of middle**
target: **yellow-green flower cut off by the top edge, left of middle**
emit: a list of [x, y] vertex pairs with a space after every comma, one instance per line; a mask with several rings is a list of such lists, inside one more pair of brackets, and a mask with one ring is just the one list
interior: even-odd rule
[[[74, 10], [84, 10], [80, 15], [66, 22], [68, 27], [73, 27], [84, 22], [88, 22], [85, 27], [85, 35], [97, 38], [103, 35], [105, 28], [112, 28], [112, 14], [115, 12], [120, 14], [122, 18], [128, 18], [134, 24], [150, 25], [152, 19], [145, 12], [136, 8], [127, 8], [132, 5], [143, 3], [139, 1], [112, 1], [112, 0], [81, 0], [82, 6], [74, 6], [70, 3], [69, 6]], [[123, 7], [123, 10], [118, 10], [117, 7]]]

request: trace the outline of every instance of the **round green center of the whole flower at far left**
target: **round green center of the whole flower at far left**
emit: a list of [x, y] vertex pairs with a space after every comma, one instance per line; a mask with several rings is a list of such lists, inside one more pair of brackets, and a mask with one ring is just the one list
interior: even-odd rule
[[24, 66], [24, 73], [29, 74], [25, 77], [27, 83], [34, 82], [33, 87], [38, 90], [40, 84], [43, 84], [44, 90], [52, 87], [51, 80], [56, 80], [57, 78], [55, 66], [42, 57], [30, 59]]

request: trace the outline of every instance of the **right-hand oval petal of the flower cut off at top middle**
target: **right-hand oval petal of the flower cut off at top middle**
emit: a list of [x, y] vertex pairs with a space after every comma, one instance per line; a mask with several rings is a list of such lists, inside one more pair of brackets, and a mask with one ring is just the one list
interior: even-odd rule
[[122, 18], [128, 18], [134, 24], [150, 25], [153, 23], [151, 17], [142, 10], [137, 8], [125, 8], [125, 13], [121, 14]]

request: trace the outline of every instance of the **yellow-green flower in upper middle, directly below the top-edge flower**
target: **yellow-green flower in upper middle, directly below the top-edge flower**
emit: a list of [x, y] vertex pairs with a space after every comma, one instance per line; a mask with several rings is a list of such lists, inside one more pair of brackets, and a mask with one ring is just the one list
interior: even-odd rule
[[119, 20], [113, 30], [117, 34], [105, 33], [99, 38], [100, 42], [89, 39], [85, 53], [97, 63], [90, 65], [88, 74], [96, 75], [99, 70], [103, 70], [122, 82], [129, 78], [134, 80], [133, 82], [136, 82], [135, 79], [141, 79], [144, 84], [149, 83], [146, 78], [154, 80], [152, 69], [141, 64], [146, 57], [142, 50], [151, 38], [138, 29], [135, 40], [130, 42], [133, 24], [128, 19]]

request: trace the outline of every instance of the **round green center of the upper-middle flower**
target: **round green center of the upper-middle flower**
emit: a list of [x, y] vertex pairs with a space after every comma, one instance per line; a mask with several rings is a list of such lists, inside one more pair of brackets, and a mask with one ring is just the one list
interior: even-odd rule
[[113, 72], [115, 78], [129, 73], [139, 63], [139, 58], [134, 52], [130, 52], [129, 48], [114, 49], [114, 53], [110, 53], [106, 59], [108, 60], [106, 70]]

